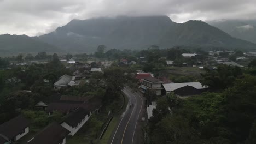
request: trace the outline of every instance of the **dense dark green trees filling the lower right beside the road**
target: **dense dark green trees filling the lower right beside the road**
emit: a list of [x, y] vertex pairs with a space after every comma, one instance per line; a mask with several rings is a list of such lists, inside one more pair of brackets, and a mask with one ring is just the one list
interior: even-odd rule
[[217, 84], [229, 86], [223, 92], [184, 100], [173, 95], [160, 98], [149, 120], [147, 142], [255, 143], [256, 77], [243, 75], [231, 80], [232, 85]]

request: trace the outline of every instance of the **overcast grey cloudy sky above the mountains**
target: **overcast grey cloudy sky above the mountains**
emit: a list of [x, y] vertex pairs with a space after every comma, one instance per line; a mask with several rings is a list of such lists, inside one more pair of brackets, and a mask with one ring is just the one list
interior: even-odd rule
[[72, 19], [167, 15], [188, 20], [256, 19], [255, 0], [0, 0], [0, 34], [41, 35]]

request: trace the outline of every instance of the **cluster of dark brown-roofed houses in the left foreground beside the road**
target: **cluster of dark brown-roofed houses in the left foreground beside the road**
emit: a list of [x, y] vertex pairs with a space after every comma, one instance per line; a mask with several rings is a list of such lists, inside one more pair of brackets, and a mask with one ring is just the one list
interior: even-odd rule
[[[68, 135], [74, 136], [83, 127], [93, 112], [100, 112], [101, 100], [89, 97], [61, 96], [52, 103], [45, 104], [42, 101], [36, 104], [36, 108], [45, 110], [51, 115], [53, 112], [65, 114], [61, 123], [51, 123], [39, 131], [28, 144], [65, 144]], [[9, 144], [21, 139], [30, 131], [30, 122], [22, 115], [10, 119], [0, 125], [0, 144]]]

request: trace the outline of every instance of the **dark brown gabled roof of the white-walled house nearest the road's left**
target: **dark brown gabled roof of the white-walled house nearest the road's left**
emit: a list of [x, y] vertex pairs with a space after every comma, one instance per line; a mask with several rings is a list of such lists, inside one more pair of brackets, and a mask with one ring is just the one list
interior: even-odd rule
[[69, 113], [69, 115], [65, 118], [63, 122], [72, 126], [72, 128], [77, 127], [77, 125], [88, 115], [88, 111], [78, 108], [75, 111]]

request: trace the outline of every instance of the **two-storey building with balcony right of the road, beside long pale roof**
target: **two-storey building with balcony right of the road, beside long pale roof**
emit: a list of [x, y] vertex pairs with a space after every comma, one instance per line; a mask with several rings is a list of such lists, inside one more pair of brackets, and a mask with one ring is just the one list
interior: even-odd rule
[[147, 89], [154, 90], [156, 95], [161, 95], [162, 81], [154, 77], [147, 77], [142, 80], [142, 85], [139, 86], [142, 92], [146, 92]]

